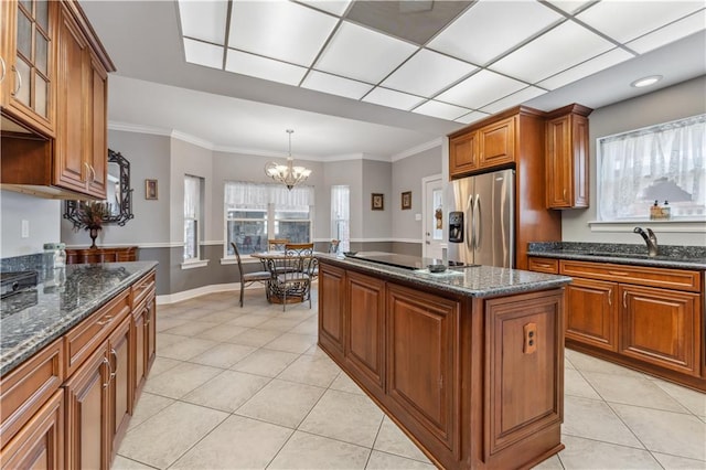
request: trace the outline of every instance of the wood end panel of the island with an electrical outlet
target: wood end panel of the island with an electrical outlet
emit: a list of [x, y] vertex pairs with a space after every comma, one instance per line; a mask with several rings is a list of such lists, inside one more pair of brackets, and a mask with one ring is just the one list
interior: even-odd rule
[[537, 446], [559, 445], [563, 309], [560, 289], [485, 301], [483, 452], [491, 467], [526, 463], [526, 445], [534, 456]]

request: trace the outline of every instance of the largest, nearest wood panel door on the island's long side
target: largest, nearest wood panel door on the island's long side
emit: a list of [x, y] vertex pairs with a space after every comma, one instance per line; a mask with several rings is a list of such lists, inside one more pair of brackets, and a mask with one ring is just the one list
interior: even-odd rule
[[459, 456], [459, 303], [387, 287], [389, 407], [432, 455]]

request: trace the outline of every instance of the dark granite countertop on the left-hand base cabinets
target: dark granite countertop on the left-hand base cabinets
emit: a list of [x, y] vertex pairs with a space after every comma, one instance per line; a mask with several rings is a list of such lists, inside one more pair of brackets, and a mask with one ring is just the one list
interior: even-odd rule
[[156, 261], [66, 266], [60, 288], [50, 281], [0, 301], [0, 375], [64, 334], [157, 266]]

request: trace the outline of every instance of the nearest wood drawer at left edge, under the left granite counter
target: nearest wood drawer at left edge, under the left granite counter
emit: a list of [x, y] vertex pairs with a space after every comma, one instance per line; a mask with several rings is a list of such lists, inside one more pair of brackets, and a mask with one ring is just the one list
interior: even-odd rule
[[0, 380], [0, 447], [58, 389], [64, 373], [64, 343], [60, 339]]

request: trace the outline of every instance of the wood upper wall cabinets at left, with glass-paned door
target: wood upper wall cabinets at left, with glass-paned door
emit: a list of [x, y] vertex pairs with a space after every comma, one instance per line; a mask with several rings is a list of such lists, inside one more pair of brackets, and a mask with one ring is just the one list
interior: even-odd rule
[[[8, 4], [12, 4], [12, 9]], [[8, 31], [17, 31], [3, 34], [3, 58], [6, 51], [12, 50], [8, 47], [9, 44], [15, 40], [17, 44], [25, 41], [24, 33], [20, 34], [19, 30], [24, 28], [22, 24], [25, 22], [29, 4], [32, 4], [33, 12], [46, 10], [46, 13], [33, 14], [39, 18], [49, 17], [46, 31], [51, 34], [46, 47], [49, 63], [54, 66], [50, 66], [47, 77], [51, 79], [46, 82], [44, 95], [49, 97], [47, 116], [53, 119], [47, 120], [52, 126], [40, 128], [30, 116], [15, 111], [20, 105], [13, 105], [11, 96], [3, 98], [3, 124], [10, 121], [18, 126], [17, 129], [2, 129], [2, 189], [45, 197], [105, 199], [108, 154], [107, 77], [108, 72], [115, 71], [115, 66], [95, 36], [83, 10], [72, 0], [33, 0], [21, 1], [19, 4], [14, 0], [3, 2], [3, 25], [8, 20]], [[13, 13], [15, 10], [17, 14]], [[32, 24], [38, 24], [29, 33], [34, 43], [38, 41], [35, 38], [43, 38], [45, 31], [40, 20]], [[18, 52], [17, 61], [23, 57]], [[30, 75], [31, 90], [36, 88], [35, 84], [42, 83], [40, 78], [44, 75], [39, 70], [41, 67], [35, 65]], [[10, 85], [3, 81], [3, 92]], [[36, 95], [43, 96], [39, 92]], [[30, 105], [38, 102], [38, 98], [29, 99]], [[38, 106], [33, 106], [38, 110]], [[30, 133], [22, 133], [22, 128]]]

